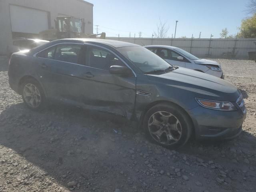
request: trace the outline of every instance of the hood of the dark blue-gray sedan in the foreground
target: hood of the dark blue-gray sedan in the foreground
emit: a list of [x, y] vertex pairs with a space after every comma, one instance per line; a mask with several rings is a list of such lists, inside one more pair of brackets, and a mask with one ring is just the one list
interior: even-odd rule
[[173, 87], [173, 91], [186, 90], [194, 92], [198, 98], [236, 102], [240, 91], [236, 86], [221, 78], [202, 72], [178, 68], [171, 72], [160, 75], [148, 75], [151, 80]]

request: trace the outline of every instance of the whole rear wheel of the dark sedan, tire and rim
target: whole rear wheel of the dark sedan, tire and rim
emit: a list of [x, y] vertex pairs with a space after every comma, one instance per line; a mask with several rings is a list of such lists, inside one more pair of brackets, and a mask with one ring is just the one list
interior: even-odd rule
[[42, 110], [46, 106], [46, 98], [40, 84], [30, 78], [21, 84], [22, 100], [32, 110]]

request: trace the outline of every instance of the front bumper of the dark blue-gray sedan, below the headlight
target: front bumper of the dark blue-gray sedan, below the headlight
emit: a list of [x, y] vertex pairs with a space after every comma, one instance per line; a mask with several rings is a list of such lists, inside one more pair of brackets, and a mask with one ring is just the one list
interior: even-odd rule
[[195, 126], [196, 138], [232, 139], [242, 132], [246, 110], [219, 111], [198, 106], [187, 111]]

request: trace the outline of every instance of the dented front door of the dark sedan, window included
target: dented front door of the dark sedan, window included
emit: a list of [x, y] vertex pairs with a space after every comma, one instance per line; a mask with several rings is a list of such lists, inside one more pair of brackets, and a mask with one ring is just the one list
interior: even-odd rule
[[110, 66], [126, 66], [110, 50], [88, 45], [85, 54], [87, 76], [80, 82], [80, 102], [130, 119], [135, 104], [136, 77], [110, 74]]

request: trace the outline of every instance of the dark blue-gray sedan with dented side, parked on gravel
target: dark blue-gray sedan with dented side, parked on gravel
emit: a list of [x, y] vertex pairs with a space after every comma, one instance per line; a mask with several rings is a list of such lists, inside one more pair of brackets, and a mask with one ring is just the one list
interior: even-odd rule
[[135, 120], [165, 147], [197, 138], [231, 139], [246, 118], [233, 84], [170, 66], [144, 47], [100, 39], [63, 39], [12, 54], [10, 87], [33, 110], [65, 102]]

